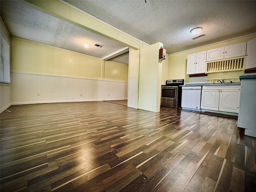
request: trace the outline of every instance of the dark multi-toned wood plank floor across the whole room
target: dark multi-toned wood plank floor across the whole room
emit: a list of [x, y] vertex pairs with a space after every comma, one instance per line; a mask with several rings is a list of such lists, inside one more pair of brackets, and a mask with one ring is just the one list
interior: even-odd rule
[[1, 192], [252, 192], [256, 138], [237, 120], [110, 102], [0, 115]]

